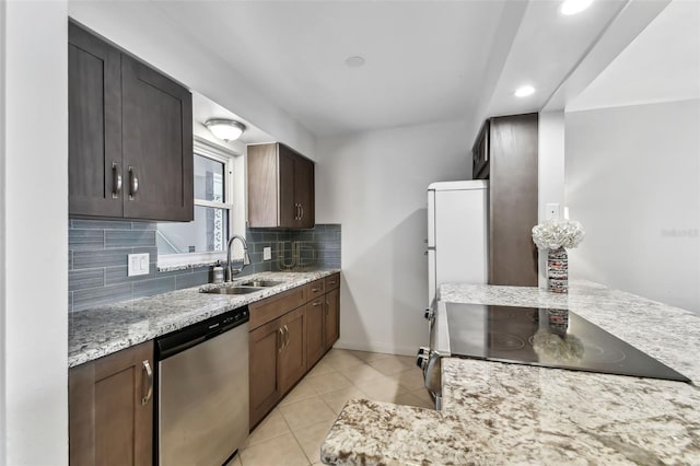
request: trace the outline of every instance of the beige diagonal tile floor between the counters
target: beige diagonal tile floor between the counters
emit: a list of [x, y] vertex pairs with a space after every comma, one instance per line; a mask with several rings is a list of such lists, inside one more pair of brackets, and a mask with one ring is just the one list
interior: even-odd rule
[[349, 398], [433, 408], [413, 358], [331, 349], [258, 424], [229, 466], [320, 464], [320, 444]]

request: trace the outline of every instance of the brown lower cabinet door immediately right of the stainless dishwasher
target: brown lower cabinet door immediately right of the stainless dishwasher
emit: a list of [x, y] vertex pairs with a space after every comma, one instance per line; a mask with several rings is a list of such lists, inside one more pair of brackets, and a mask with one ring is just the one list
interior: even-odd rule
[[248, 335], [250, 429], [262, 420], [282, 396], [279, 360], [283, 331], [280, 322], [279, 318], [268, 322]]

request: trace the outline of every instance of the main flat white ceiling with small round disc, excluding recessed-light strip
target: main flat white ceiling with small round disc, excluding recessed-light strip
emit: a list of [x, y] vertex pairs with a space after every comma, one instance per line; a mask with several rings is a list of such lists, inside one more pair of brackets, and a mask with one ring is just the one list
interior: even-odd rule
[[156, 3], [317, 136], [463, 118], [503, 4]]

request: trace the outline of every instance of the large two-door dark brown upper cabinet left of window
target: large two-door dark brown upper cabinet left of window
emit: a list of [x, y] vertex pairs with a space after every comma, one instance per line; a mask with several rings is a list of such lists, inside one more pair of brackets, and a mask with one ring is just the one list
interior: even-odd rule
[[69, 213], [191, 221], [190, 92], [69, 23]]

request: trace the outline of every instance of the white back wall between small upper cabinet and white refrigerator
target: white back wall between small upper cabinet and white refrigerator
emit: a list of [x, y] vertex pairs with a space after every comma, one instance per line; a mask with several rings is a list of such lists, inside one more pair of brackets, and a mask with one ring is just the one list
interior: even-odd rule
[[471, 178], [465, 121], [319, 139], [316, 222], [342, 224], [341, 348], [428, 342], [427, 188]]

